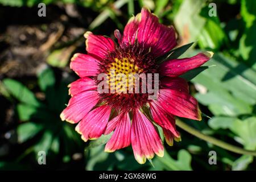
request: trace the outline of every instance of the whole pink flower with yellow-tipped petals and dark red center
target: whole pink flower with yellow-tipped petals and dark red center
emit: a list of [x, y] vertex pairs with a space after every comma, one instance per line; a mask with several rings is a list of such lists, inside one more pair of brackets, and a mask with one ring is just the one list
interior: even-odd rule
[[[60, 117], [78, 123], [76, 131], [85, 142], [113, 131], [105, 151], [113, 152], [131, 144], [135, 159], [143, 164], [155, 154], [164, 155], [155, 125], [162, 127], [167, 144], [172, 146], [174, 139], [180, 140], [175, 115], [201, 120], [197, 101], [189, 95], [187, 82], [179, 76], [200, 67], [212, 53], [156, 64], [157, 57], [176, 46], [175, 31], [160, 24], [147, 9], [129, 20], [123, 36], [118, 30], [114, 35], [118, 45], [105, 36], [85, 33], [88, 54], [76, 53], [70, 65], [81, 78], [69, 85], [72, 97]], [[159, 73], [158, 98], [148, 100], [147, 93], [98, 93], [98, 74], [109, 74], [111, 68], [126, 75]], [[146, 115], [142, 107], [150, 108], [150, 114]]]

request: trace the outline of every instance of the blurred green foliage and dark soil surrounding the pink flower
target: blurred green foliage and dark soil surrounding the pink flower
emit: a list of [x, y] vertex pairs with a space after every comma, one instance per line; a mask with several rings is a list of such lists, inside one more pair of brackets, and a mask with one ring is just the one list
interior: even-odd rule
[[[47, 16], [37, 16], [38, 3]], [[210, 17], [209, 3], [217, 5]], [[163, 158], [138, 164], [131, 147], [104, 152], [109, 136], [84, 143], [59, 114], [68, 102], [67, 85], [77, 76], [68, 64], [85, 52], [86, 30], [113, 37], [131, 15], [146, 6], [160, 22], [173, 24], [184, 55], [213, 51], [208, 69], [194, 77], [191, 93], [203, 121], [189, 125], [225, 142], [256, 150], [256, 1], [254, 0], [0, 0], [0, 169], [251, 170], [254, 158], [237, 155], [181, 132]], [[15, 12], [15, 13], [14, 13]], [[207, 67], [205, 67], [207, 68]], [[47, 165], [38, 165], [38, 151]], [[209, 165], [209, 151], [217, 165]]]

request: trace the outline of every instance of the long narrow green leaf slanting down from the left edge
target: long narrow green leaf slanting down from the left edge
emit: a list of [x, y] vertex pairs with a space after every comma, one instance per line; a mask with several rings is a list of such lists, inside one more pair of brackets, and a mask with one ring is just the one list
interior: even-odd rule
[[9, 92], [20, 102], [26, 103], [32, 106], [40, 106], [40, 102], [36, 99], [35, 95], [18, 81], [6, 78], [3, 80], [6, 88]]

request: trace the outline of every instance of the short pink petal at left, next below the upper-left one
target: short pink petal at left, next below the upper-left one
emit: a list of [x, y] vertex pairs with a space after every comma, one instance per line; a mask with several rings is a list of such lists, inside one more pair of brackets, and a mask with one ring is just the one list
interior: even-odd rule
[[76, 53], [71, 59], [70, 68], [80, 77], [96, 76], [98, 63], [98, 60], [92, 56]]

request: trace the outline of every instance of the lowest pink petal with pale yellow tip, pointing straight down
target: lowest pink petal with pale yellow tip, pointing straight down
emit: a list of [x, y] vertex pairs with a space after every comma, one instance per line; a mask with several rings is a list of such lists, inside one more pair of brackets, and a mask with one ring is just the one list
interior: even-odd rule
[[141, 111], [135, 110], [133, 114], [131, 146], [137, 162], [143, 164], [155, 154], [163, 156], [163, 144], [155, 127]]

